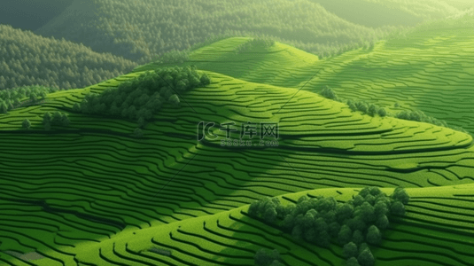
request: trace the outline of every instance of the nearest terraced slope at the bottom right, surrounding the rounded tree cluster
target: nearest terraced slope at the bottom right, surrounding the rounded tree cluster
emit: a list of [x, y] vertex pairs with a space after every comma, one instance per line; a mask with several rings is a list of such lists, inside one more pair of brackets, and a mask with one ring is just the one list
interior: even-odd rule
[[[318, 189], [278, 198], [294, 203], [302, 195], [323, 195], [344, 202], [355, 191]], [[470, 265], [474, 256], [470, 252], [474, 234], [470, 223], [474, 215], [470, 207], [474, 200], [472, 184], [413, 188], [408, 193], [412, 199], [407, 217], [392, 223], [384, 244], [375, 251], [377, 265]], [[91, 247], [81, 259], [127, 265], [253, 265], [253, 254], [265, 247], [278, 249], [285, 265], [340, 265], [343, 254], [336, 243], [327, 249], [297, 243], [290, 235], [250, 218], [246, 210], [247, 206], [238, 207], [170, 223], [159, 230], [129, 232]]]

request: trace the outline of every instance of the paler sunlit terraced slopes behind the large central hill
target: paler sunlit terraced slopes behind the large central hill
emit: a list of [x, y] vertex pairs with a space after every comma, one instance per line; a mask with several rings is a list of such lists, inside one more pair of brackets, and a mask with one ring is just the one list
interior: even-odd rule
[[[473, 26], [468, 14], [417, 27], [405, 39], [382, 41], [372, 50], [324, 60], [282, 43], [236, 54], [247, 40], [226, 39], [193, 51], [188, 64], [248, 82], [298, 89], [307, 83], [303, 90], [309, 91], [329, 85], [341, 98], [366, 100], [392, 113], [422, 110], [474, 133]], [[136, 71], [149, 67], [155, 66]]]

